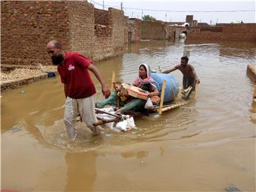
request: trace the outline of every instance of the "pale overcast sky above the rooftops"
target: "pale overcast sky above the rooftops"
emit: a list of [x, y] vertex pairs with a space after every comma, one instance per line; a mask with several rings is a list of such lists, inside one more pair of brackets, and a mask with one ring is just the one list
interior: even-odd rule
[[[172, 1], [172, 0], [87, 0], [95, 4], [95, 8], [105, 10], [112, 6], [120, 9], [121, 2], [124, 15], [134, 18], [142, 18], [142, 15], [150, 15], [161, 21], [186, 21], [186, 15], [193, 15], [193, 19], [203, 23], [231, 23], [243, 21], [255, 23], [256, 0], [250, 1]], [[148, 9], [148, 10], [146, 10]], [[143, 11], [142, 11], [143, 10]], [[149, 11], [152, 10], [152, 11]], [[154, 10], [154, 11], [153, 11]], [[208, 11], [208, 12], [203, 12]]]

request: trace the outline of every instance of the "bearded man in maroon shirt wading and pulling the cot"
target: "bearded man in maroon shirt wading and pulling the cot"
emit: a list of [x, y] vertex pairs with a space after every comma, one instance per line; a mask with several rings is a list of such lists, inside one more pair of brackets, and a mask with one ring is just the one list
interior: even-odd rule
[[90, 127], [93, 134], [99, 134], [99, 128], [93, 126], [97, 122], [94, 97], [96, 90], [88, 70], [100, 81], [102, 94], [109, 97], [109, 87], [100, 71], [80, 53], [63, 51], [63, 47], [58, 41], [50, 41], [46, 49], [53, 65], [58, 65], [58, 73], [64, 84], [66, 97], [64, 122], [68, 138], [72, 140], [76, 138], [75, 121], [78, 114], [87, 127]]

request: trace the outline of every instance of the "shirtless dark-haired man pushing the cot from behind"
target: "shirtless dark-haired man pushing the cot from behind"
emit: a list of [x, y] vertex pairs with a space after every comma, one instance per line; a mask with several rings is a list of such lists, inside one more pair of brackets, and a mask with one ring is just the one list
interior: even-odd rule
[[180, 70], [183, 74], [183, 90], [186, 90], [189, 86], [192, 87], [192, 90], [195, 90], [196, 82], [200, 83], [196, 71], [192, 65], [188, 64], [188, 57], [181, 58], [181, 64], [176, 65], [174, 68], [169, 70], [164, 70], [161, 73], [171, 73], [174, 70]]

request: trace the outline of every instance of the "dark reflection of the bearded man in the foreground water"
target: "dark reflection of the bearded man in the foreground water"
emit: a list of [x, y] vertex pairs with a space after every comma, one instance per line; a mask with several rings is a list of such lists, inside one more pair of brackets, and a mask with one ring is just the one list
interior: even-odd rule
[[66, 153], [68, 166], [65, 191], [94, 191], [97, 153]]

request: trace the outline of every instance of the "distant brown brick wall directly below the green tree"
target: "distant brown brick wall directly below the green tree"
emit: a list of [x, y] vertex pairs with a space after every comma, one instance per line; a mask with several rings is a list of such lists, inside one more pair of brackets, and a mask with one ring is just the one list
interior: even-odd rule
[[164, 39], [163, 21], [142, 21], [142, 39]]

